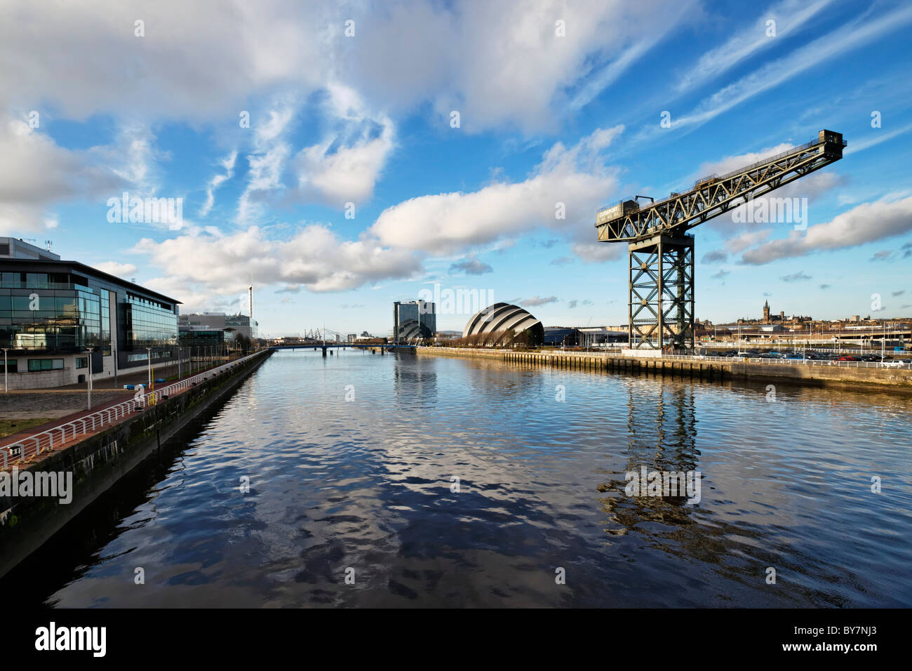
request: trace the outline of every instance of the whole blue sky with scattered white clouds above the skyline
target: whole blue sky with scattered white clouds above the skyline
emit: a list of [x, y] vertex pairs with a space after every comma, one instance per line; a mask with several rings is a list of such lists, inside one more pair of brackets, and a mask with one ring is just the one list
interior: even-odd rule
[[[910, 30], [908, 3], [840, 0], [7, 2], [0, 235], [182, 311], [246, 311], [253, 278], [268, 335], [385, 335], [435, 283], [613, 325], [598, 205], [826, 128], [845, 158], [774, 194], [806, 230], [694, 230], [697, 316], [912, 315]], [[124, 192], [181, 198], [180, 228], [109, 221]]]

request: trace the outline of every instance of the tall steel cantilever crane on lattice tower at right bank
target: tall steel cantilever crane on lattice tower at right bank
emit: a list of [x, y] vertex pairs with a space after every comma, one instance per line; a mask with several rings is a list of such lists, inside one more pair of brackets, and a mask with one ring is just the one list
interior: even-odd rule
[[688, 192], [658, 203], [641, 207], [637, 201], [644, 196], [636, 196], [600, 209], [599, 241], [628, 243], [630, 347], [662, 349], [668, 342], [675, 350], [693, 349], [689, 229], [838, 161], [845, 144], [842, 133], [820, 131], [812, 142], [733, 173], [703, 177]]

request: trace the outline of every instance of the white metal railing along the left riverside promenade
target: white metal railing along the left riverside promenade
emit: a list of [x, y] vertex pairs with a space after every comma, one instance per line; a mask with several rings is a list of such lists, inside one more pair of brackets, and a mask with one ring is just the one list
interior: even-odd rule
[[137, 394], [131, 398], [130, 401], [111, 405], [102, 410], [98, 410], [95, 413], [78, 417], [66, 424], [55, 426], [35, 435], [29, 435], [14, 443], [0, 446], [0, 470], [8, 468], [12, 464], [24, 463], [47, 450], [55, 449], [55, 446], [65, 445], [69, 441], [78, 438], [80, 435], [86, 435], [89, 432], [97, 431], [102, 426], [114, 424], [129, 414], [133, 414], [138, 410], [145, 409], [151, 405], [158, 404], [163, 396], [178, 393], [183, 389], [201, 383], [203, 380], [206, 380], [213, 375], [219, 375], [229, 371], [235, 366], [249, 361], [258, 353], [260, 352], [249, 354], [241, 359], [225, 363], [216, 368], [210, 368], [209, 370], [197, 373], [192, 377], [162, 387], [161, 389], [156, 389], [145, 394]]

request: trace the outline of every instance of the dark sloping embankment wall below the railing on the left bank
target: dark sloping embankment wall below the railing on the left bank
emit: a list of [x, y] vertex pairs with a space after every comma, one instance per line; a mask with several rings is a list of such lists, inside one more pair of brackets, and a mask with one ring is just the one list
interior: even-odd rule
[[[271, 354], [271, 350], [260, 352], [233, 370], [212, 375], [202, 383], [150, 406], [141, 414], [111, 425], [37, 463], [21, 465], [19, 475], [28, 471], [35, 482], [37, 474], [72, 474], [69, 492], [72, 500], [61, 503], [58, 497], [0, 497], [0, 577], [26, 560], [195, 417], [224, 403]], [[12, 477], [12, 474], [0, 474], [0, 477], [5, 476]], [[54, 479], [59, 480], [58, 477]]]

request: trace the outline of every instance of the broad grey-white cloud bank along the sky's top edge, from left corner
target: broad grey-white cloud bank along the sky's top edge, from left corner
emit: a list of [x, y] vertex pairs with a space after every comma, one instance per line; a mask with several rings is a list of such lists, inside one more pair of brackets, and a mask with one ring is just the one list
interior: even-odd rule
[[[159, 0], [138, 11], [97, 0], [90, 10], [63, 3], [47, 12], [10, 0], [0, 5], [0, 108], [42, 100], [78, 120], [100, 112], [228, 126], [257, 96], [289, 89], [303, 100], [342, 80], [378, 109], [430, 103], [441, 115], [461, 110], [465, 131], [530, 131], [551, 127], [565, 112], [566, 92], [593, 68], [629, 66], [631, 53], [674, 26], [680, 7], [677, 0]], [[145, 37], [134, 35], [139, 18]], [[343, 35], [347, 19], [356, 37]], [[557, 20], [566, 37], [555, 34]]]

